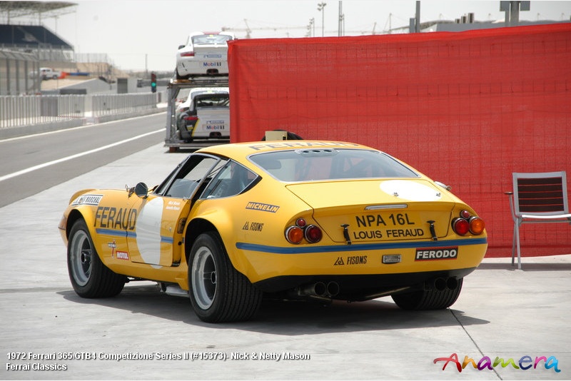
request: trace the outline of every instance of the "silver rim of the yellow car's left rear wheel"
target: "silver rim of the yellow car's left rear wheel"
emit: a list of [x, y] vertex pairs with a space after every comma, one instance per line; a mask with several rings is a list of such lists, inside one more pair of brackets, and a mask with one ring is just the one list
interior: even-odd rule
[[216, 263], [212, 252], [206, 246], [201, 246], [196, 250], [192, 263], [192, 292], [202, 310], [211, 307], [216, 296], [216, 283]]

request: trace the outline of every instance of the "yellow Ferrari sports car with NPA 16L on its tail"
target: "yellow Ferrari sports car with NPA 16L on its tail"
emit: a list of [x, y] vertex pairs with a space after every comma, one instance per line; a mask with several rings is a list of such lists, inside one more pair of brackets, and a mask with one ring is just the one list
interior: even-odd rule
[[206, 322], [250, 319], [264, 297], [448, 308], [487, 248], [448, 187], [335, 141], [202, 148], [151, 189], [77, 192], [59, 229], [81, 297], [154, 280]]

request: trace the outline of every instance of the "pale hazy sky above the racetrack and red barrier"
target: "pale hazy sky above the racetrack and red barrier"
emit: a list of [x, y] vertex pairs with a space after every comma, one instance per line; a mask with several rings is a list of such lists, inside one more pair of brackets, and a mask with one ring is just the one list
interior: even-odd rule
[[[338, 0], [79, 0], [69, 14], [41, 20], [73, 45], [76, 53], [108, 54], [123, 70], [173, 70], [178, 45], [192, 31], [236, 29], [252, 38], [303, 37], [310, 19], [315, 36], [338, 35]], [[325, 2], [323, 14], [318, 3]], [[345, 35], [383, 33], [408, 26], [415, 0], [343, 0]], [[500, 1], [422, 0], [420, 21], [453, 20], [473, 12], [477, 21], [501, 20]], [[570, 20], [571, 1], [531, 1], [521, 20]], [[322, 23], [323, 17], [323, 23]], [[0, 22], [6, 22], [0, 19]], [[11, 19], [11, 24], [38, 24], [35, 19]], [[312, 29], [313, 33], [313, 29]]]

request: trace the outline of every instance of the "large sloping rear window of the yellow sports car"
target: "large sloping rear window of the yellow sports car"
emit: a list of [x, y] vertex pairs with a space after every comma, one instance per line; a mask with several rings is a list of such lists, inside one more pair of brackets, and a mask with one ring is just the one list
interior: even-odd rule
[[348, 178], [418, 178], [418, 173], [379, 151], [309, 148], [257, 153], [250, 160], [280, 181]]

